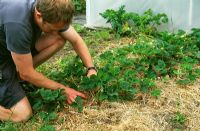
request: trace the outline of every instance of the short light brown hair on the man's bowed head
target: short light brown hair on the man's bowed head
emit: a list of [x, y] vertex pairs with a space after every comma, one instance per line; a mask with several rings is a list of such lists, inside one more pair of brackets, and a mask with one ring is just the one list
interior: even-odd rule
[[70, 24], [74, 15], [71, 0], [36, 0], [36, 9], [48, 23], [65, 22]]

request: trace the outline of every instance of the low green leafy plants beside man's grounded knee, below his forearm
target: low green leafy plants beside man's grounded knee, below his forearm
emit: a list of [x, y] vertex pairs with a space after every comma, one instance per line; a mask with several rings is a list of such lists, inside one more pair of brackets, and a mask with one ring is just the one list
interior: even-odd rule
[[[54, 73], [52, 75], [55, 76]], [[56, 111], [63, 109], [66, 103], [66, 96], [62, 93], [63, 90], [37, 89], [31, 84], [25, 84], [23, 87], [27, 92], [33, 110], [38, 113], [42, 120], [43, 125], [38, 131], [55, 131], [51, 122], [57, 119]]]

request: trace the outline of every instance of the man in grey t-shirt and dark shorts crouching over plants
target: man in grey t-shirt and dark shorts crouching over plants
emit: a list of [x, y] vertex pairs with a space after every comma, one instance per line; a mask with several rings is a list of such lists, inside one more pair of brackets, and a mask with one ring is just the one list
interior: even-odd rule
[[68, 40], [88, 68], [87, 76], [96, 74], [87, 46], [70, 26], [73, 12], [70, 0], [0, 1], [0, 120], [20, 122], [32, 115], [20, 79], [38, 87], [64, 89], [69, 104], [77, 96], [86, 98], [34, 69]]

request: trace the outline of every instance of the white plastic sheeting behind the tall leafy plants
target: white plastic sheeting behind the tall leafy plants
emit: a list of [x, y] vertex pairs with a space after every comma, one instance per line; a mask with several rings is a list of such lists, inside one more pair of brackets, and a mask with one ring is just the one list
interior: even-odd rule
[[200, 0], [86, 0], [86, 26], [107, 27], [106, 20], [99, 15], [106, 9], [118, 10], [125, 5], [127, 12], [142, 14], [148, 9], [155, 13], [166, 13], [169, 23], [162, 29], [189, 31], [200, 28]]

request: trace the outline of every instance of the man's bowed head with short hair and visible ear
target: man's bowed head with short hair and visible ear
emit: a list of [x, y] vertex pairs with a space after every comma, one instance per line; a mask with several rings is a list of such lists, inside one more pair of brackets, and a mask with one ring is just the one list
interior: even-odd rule
[[[45, 32], [69, 26], [73, 14], [74, 7], [71, 0], [36, 0], [36, 23]], [[47, 29], [51, 25], [55, 25], [55, 28]]]

